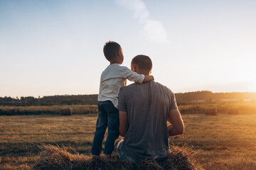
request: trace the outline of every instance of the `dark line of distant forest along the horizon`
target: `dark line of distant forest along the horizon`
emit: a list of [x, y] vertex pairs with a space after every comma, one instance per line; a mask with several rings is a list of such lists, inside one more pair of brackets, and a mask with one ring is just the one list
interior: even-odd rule
[[[211, 91], [195, 91], [175, 94], [178, 104], [193, 102], [215, 101], [256, 101], [256, 93], [213, 93]], [[31, 96], [21, 98], [0, 97], [1, 106], [50, 106], [71, 104], [97, 104], [97, 94], [92, 95], [65, 95], [43, 96], [34, 98]]]

